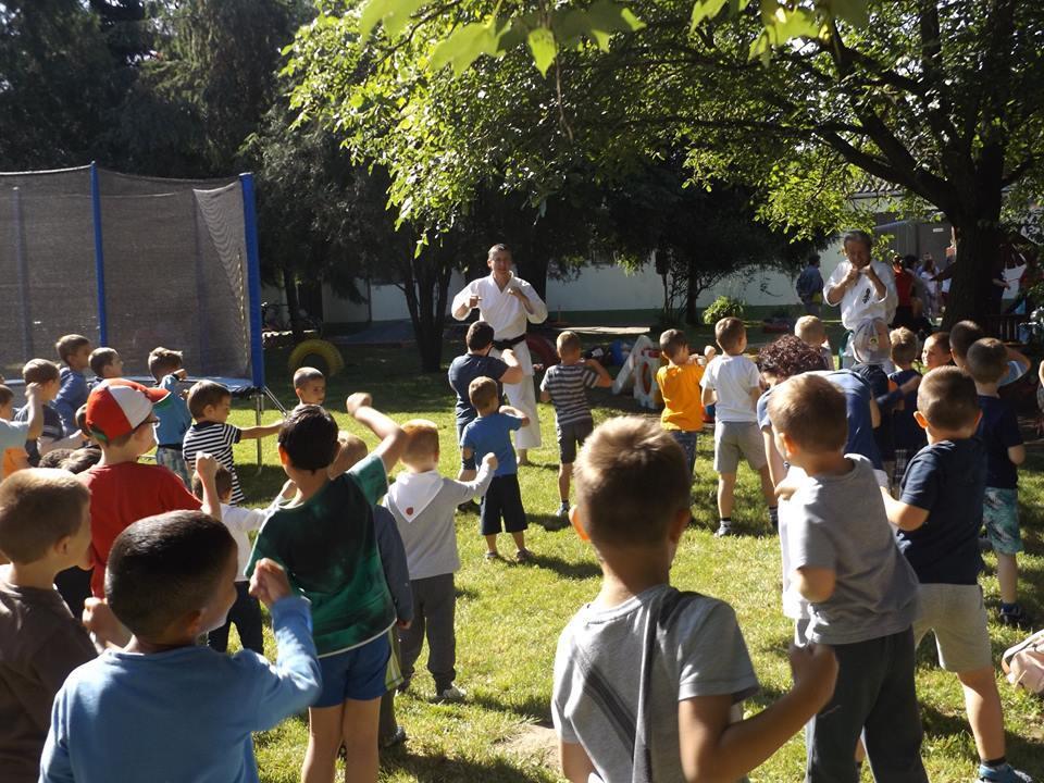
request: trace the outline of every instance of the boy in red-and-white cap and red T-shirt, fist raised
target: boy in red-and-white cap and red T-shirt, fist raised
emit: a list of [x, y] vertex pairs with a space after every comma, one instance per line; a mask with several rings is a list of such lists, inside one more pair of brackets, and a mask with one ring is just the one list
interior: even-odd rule
[[[157, 419], [152, 406], [170, 397], [123, 378], [105, 381], [87, 398], [87, 426], [101, 446], [101, 462], [82, 474], [90, 489], [90, 552], [95, 572], [91, 592], [104, 596], [105, 563], [116, 536], [134, 522], [164, 511], [200, 509], [200, 501], [166, 468], [142, 464], [138, 458], [156, 446]], [[221, 499], [214, 486], [217, 463], [199, 455], [196, 472], [203, 485], [202, 511], [221, 520]]]

